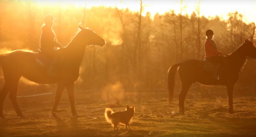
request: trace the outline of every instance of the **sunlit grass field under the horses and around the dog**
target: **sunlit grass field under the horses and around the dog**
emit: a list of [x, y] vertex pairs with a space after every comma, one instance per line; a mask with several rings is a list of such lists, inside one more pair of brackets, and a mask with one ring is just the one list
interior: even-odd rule
[[[8, 100], [8, 99], [6, 99]], [[60, 102], [58, 118], [50, 115], [53, 102], [21, 105], [26, 117], [16, 116], [12, 106], [4, 107], [7, 119], [0, 119], [0, 137], [255, 137], [256, 98], [234, 98], [235, 114], [227, 114], [227, 98], [186, 98], [185, 115], [178, 114], [178, 100], [133, 100], [120, 103], [76, 102], [80, 117], [72, 117], [67, 101]], [[106, 122], [104, 110], [124, 110], [135, 106], [130, 127], [113, 130]]]

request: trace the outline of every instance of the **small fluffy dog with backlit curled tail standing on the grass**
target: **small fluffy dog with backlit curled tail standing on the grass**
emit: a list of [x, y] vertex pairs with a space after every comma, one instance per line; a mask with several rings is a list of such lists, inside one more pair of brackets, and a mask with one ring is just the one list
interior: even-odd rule
[[132, 119], [135, 112], [134, 106], [130, 108], [128, 105], [124, 111], [113, 112], [111, 108], [106, 108], [105, 117], [106, 121], [111, 123], [114, 126], [114, 129], [118, 129], [117, 125], [122, 123], [125, 125], [125, 128], [129, 125], [129, 121]]

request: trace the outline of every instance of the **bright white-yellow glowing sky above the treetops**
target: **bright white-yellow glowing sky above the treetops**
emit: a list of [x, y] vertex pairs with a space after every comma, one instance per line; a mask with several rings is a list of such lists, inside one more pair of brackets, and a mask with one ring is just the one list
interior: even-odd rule
[[[126, 9], [133, 12], [140, 10], [140, 0], [34, 0], [40, 6], [44, 5], [58, 5], [65, 7], [74, 6], [75, 8], [90, 9], [94, 6], [117, 7], [118, 9]], [[250, 23], [256, 21], [255, 8], [256, 1], [245, 0], [243, 2], [210, 2], [208, 0], [142, 0], [143, 13], [145, 16], [147, 12], [151, 13], [152, 18], [156, 13], [164, 14], [170, 10], [174, 10], [176, 14], [180, 14], [182, 6], [182, 15], [192, 14], [200, 6], [200, 16], [215, 17], [219, 16], [226, 20], [229, 12], [238, 11], [244, 16], [244, 22]], [[200, 4], [199, 4], [200, 3]]]

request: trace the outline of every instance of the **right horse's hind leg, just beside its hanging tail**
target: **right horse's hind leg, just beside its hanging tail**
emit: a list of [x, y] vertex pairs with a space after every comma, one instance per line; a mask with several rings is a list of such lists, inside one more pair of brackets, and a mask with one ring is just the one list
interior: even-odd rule
[[186, 98], [186, 94], [188, 93], [188, 89], [190, 88], [192, 82], [186, 82], [182, 83], [182, 89], [179, 94], [179, 108], [180, 108], [180, 114], [185, 113], [185, 108], [184, 108], [184, 100]]

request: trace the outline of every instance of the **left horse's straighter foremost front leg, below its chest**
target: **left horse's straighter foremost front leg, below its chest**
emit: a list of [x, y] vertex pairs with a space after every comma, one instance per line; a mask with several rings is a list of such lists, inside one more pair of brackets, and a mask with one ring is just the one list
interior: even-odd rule
[[68, 98], [71, 106], [72, 115], [77, 117], [75, 109], [75, 99], [74, 99], [74, 82], [67, 84]]

